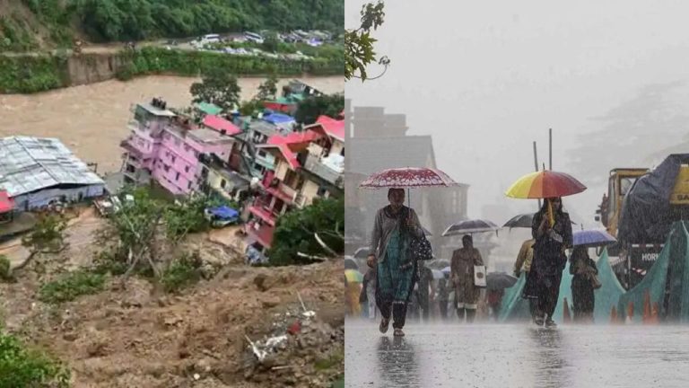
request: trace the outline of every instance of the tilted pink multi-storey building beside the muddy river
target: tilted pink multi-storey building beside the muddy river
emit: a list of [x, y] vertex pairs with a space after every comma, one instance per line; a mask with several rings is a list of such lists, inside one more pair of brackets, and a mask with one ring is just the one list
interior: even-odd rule
[[224, 129], [197, 128], [158, 100], [137, 104], [128, 127], [131, 135], [121, 143], [126, 151], [122, 166], [125, 181], [146, 184], [153, 179], [172, 194], [198, 189], [199, 155], [216, 154], [227, 160], [232, 149], [233, 139]]

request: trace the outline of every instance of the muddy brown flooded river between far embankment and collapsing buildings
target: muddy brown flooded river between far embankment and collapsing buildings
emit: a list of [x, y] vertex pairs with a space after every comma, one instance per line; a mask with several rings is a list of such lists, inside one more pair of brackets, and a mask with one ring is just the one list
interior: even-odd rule
[[[282, 80], [286, 84], [290, 78]], [[323, 93], [345, 91], [342, 76], [302, 77]], [[0, 137], [24, 135], [58, 137], [84, 162], [98, 163], [98, 172], [118, 171], [126, 137], [129, 106], [160, 96], [169, 106], [187, 106], [196, 78], [152, 75], [123, 83], [110, 80], [46, 93], [0, 95]], [[241, 99], [257, 93], [261, 78], [240, 78]]]

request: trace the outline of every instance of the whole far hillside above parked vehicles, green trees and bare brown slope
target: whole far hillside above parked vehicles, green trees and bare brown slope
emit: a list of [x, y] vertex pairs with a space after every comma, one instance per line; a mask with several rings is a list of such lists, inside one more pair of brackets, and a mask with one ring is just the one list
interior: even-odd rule
[[232, 31], [344, 30], [343, 0], [8, 0], [0, 51]]

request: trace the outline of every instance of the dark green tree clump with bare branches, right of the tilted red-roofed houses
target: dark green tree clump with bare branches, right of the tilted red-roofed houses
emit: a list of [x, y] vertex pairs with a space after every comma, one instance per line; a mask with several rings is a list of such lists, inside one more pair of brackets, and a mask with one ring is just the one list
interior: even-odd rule
[[273, 265], [308, 264], [345, 251], [345, 199], [315, 199], [313, 204], [278, 218]]

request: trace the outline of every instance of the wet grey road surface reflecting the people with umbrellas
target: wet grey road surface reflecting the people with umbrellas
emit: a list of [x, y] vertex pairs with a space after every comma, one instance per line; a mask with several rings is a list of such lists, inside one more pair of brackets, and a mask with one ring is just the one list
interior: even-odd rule
[[345, 323], [347, 387], [689, 387], [689, 326]]

